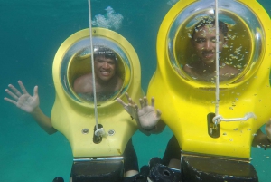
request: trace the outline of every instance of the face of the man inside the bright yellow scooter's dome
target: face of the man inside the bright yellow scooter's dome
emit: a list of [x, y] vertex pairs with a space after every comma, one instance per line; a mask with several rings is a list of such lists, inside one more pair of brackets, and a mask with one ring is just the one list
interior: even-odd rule
[[[226, 43], [224, 35], [220, 34], [220, 52], [223, 45]], [[201, 61], [210, 64], [215, 62], [216, 59], [216, 31], [213, 24], [205, 25], [199, 28], [192, 37], [192, 46], [194, 47], [197, 55]]]

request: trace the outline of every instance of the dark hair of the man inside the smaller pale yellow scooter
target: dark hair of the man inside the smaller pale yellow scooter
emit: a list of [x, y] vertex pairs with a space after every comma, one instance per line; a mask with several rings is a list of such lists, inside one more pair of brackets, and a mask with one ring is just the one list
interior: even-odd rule
[[105, 58], [111, 59], [111, 60], [114, 60], [115, 62], [117, 62], [116, 53], [106, 46], [103, 46], [103, 45], [94, 45], [93, 46], [94, 60], [96, 59], [96, 57], [98, 55], [104, 55]]

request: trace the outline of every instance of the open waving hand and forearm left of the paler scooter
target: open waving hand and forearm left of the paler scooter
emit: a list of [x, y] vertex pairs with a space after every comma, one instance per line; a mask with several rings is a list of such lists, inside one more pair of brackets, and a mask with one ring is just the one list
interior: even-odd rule
[[18, 91], [12, 84], [9, 84], [9, 89], [5, 89], [5, 92], [10, 95], [13, 99], [4, 98], [5, 101], [13, 103], [21, 110], [30, 113], [33, 119], [44, 129], [48, 134], [53, 134], [57, 130], [51, 125], [51, 118], [47, 117], [40, 109], [40, 99], [38, 94], [38, 86], [34, 87], [33, 96], [26, 91], [23, 82], [18, 81], [21, 91]]

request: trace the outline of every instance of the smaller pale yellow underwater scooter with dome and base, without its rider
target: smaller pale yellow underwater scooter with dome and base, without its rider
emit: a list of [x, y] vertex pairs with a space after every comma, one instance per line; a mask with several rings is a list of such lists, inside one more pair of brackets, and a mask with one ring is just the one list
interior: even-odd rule
[[[123, 80], [122, 88], [106, 100], [98, 101], [97, 110], [93, 101], [74, 91], [75, 79], [91, 72], [91, 49], [89, 29], [72, 34], [61, 44], [53, 62], [56, 99], [51, 121], [70, 142], [74, 157], [73, 181], [80, 181], [80, 177], [89, 181], [121, 181], [122, 155], [137, 127], [116, 98], [126, 100], [125, 92], [135, 101], [142, 97], [140, 63], [132, 45], [120, 34], [93, 28], [92, 36], [93, 45], [106, 46], [116, 54], [117, 75]], [[104, 130], [103, 136], [95, 134], [96, 120], [98, 128]]]

